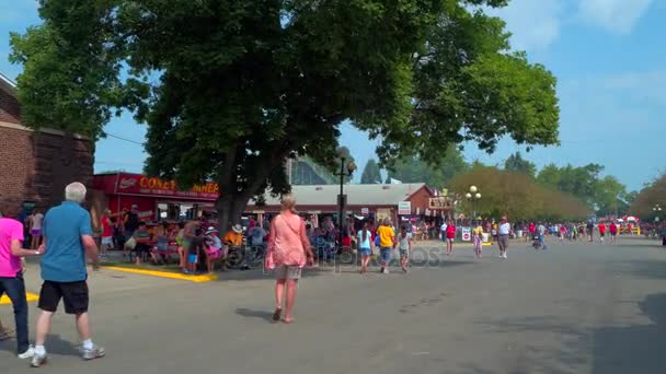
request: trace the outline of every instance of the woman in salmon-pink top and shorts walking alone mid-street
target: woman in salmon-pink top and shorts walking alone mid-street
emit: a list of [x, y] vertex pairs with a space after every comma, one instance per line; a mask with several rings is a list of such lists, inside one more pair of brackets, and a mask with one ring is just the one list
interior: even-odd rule
[[[296, 213], [296, 199], [285, 195], [279, 214], [271, 222], [265, 266], [275, 271], [275, 312], [273, 320], [279, 322], [286, 293], [286, 311], [283, 322], [294, 323], [296, 285], [306, 264], [312, 264], [313, 255], [306, 235], [306, 222]], [[286, 290], [285, 290], [286, 289]], [[285, 292], [286, 291], [286, 292]]]

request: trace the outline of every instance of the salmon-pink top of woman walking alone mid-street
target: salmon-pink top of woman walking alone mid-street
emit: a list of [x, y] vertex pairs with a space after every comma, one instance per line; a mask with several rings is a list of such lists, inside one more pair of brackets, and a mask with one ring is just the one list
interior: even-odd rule
[[279, 214], [273, 219], [266, 265], [268, 269], [280, 266], [306, 266], [303, 220], [296, 214]]

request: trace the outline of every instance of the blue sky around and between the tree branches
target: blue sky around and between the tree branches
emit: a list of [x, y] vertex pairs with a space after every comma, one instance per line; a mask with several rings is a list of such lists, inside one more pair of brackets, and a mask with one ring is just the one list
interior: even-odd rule
[[[38, 24], [35, 0], [0, 2], [0, 72], [15, 78], [9, 32]], [[666, 167], [666, 1], [664, 0], [512, 0], [493, 10], [507, 22], [512, 44], [531, 61], [543, 63], [559, 80], [561, 107], [559, 148], [529, 154], [508, 139], [485, 154], [467, 144], [469, 161], [503, 163], [515, 152], [539, 167], [548, 163], [606, 166], [630, 189]], [[146, 128], [131, 116], [114, 119], [106, 131], [141, 142]], [[375, 154], [376, 143], [351, 126], [341, 143], [349, 147], [359, 167]], [[97, 143], [95, 171], [140, 172], [146, 154], [134, 142], [108, 138]], [[360, 173], [357, 173], [357, 177]]]

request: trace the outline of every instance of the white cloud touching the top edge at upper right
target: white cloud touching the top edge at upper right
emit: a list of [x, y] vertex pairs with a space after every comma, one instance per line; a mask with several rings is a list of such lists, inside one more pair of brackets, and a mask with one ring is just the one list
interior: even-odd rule
[[579, 0], [578, 13], [583, 20], [607, 31], [627, 34], [652, 2], [653, 0]]

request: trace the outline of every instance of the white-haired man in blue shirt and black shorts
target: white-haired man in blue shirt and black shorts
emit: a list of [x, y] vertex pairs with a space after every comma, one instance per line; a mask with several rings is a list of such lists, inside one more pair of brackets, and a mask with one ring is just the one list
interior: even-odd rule
[[46, 362], [44, 342], [50, 330], [51, 318], [60, 300], [65, 313], [73, 314], [82, 341], [83, 360], [104, 357], [104, 349], [91, 340], [88, 316], [88, 271], [85, 255], [92, 259], [96, 269], [99, 264], [97, 245], [92, 236], [89, 212], [81, 207], [85, 200], [85, 186], [74, 182], [65, 188], [65, 201], [51, 208], [44, 218], [43, 234], [45, 247], [42, 257], [42, 291], [35, 339], [35, 357], [31, 365], [39, 367]]

